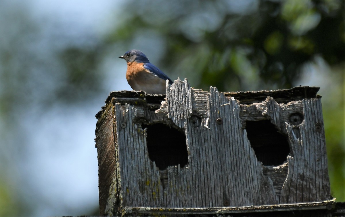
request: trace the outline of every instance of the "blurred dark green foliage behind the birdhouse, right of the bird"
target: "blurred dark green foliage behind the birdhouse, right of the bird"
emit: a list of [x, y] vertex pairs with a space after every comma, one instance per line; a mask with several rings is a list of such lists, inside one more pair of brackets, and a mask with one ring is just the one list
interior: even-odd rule
[[324, 105], [331, 187], [334, 197], [345, 200], [344, 121], [339, 121], [344, 120], [345, 1], [132, 0], [125, 7], [106, 43], [130, 47], [142, 35], [159, 37], [164, 46], [157, 48], [155, 64], [173, 79], [188, 78], [195, 88], [291, 88], [306, 65], [323, 58], [339, 87], [336, 96], [323, 100], [333, 104]]

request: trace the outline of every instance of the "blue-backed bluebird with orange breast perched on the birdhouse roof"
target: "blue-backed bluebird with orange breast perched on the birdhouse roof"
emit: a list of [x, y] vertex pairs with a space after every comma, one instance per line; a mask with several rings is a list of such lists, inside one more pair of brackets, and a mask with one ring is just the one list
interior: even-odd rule
[[144, 90], [148, 94], [165, 94], [166, 80], [172, 80], [151, 64], [139, 50], [130, 50], [119, 58], [127, 62], [126, 78], [133, 90]]

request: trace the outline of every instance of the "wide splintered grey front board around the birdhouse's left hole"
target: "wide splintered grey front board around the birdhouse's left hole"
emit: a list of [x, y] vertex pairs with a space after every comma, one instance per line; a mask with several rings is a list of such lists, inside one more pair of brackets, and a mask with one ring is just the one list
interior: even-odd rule
[[[156, 111], [157, 117], [168, 116], [176, 126], [184, 129], [189, 153], [187, 166], [166, 169], [167, 186], [163, 186], [159, 170], [148, 158], [146, 131], [134, 121], [138, 115], [136, 107], [115, 104], [119, 123], [117, 149], [122, 207], [224, 207], [275, 203], [272, 181], [263, 175], [261, 163], [256, 160], [242, 128], [238, 101], [225, 97], [217, 88], [210, 88], [207, 103], [193, 102], [200, 98], [199, 94], [205, 96], [202, 91], [192, 92], [186, 80], [179, 80], [170, 87], [166, 101]], [[193, 108], [193, 105], [198, 107]], [[190, 117], [199, 110], [205, 118], [201, 119], [200, 126], [195, 126]]]

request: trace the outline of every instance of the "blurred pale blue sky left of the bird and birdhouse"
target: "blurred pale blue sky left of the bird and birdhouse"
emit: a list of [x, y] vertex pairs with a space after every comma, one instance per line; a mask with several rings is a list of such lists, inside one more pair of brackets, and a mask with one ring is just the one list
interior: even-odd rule
[[[114, 28], [115, 24], [107, 20], [116, 16], [121, 2], [0, 2], [0, 49], [18, 50], [11, 62], [12, 69], [18, 68], [18, 77], [12, 71], [13, 84], [0, 83], [0, 93], [11, 91], [13, 101], [27, 98], [20, 107], [16, 103], [17, 108], [11, 108], [11, 116], [18, 122], [1, 116], [0, 186], [4, 189], [0, 190], [0, 216], [11, 214], [1, 209], [16, 207], [12, 202], [18, 200], [23, 202], [25, 211], [13, 211], [13, 216], [87, 215], [97, 210], [95, 115], [110, 91], [130, 88], [125, 76], [117, 73], [126, 70], [124, 62], [116, 63], [120, 63], [116, 57], [125, 50], [110, 55], [112, 61], [106, 60], [99, 69], [109, 79], [104, 80], [98, 97], [69, 104], [47, 102], [47, 98], [63, 81], [59, 74], [63, 67], [54, 59], [54, 52], [71, 45], [97, 43], [110, 26]], [[26, 32], [30, 25], [38, 30]], [[13, 44], [19, 46], [11, 47]], [[42, 63], [26, 68], [30, 77], [25, 84], [20, 84], [21, 58]], [[5, 76], [3, 72], [1, 75]], [[1, 101], [6, 103], [9, 102]]]

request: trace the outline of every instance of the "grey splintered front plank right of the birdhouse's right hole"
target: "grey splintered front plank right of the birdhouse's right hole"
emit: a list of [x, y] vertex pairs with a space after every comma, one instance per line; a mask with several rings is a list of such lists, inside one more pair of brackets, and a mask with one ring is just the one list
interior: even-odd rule
[[281, 192], [285, 203], [331, 198], [321, 99], [304, 99], [303, 111], [304, 120], [298, 126], [286, 122], [292, 153], [288, 156], [288, 176]]

